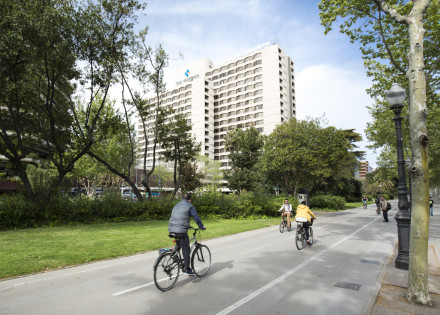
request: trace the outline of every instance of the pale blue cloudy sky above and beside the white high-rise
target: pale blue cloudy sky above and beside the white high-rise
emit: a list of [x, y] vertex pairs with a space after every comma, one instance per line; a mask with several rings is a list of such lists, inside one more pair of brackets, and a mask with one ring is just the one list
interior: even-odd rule
[[355, 129], [375, 167], [379, 152], [366, 148], [364, 135], [372, 121], [365, 91], [371, 80], [356, 44], [338, 30], [324, 35], [318, 2], [150, 0], [139, 27], [148, 26], [150, 45], [162, 44], [170, 57], [167, 89], [175, 85], [176, 70], [195, 59], [208, 58], [216, 66], [260, 44], [277, 43], [294, 62], [297, 119], [325, 116], [329, 126]]

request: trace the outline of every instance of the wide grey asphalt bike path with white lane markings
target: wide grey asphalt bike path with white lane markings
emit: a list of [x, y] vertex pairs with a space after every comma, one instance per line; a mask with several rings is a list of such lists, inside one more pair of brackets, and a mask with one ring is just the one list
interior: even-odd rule
[[314, 245], [301, 251], [295, 230], [278, 226], [202, 240], [208, 275], [182, 275], [165, 293], [153, 280], [157, 252], [2, 281], [0, 314], [365, 314], [396, 239], [395, 209], [389, 223], [374, 205], [318, 214]]

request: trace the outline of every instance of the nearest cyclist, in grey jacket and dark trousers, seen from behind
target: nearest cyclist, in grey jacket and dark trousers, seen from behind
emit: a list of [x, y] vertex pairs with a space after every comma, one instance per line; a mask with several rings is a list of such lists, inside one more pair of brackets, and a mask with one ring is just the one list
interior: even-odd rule
[[185, 262], [183, 267], [184, 273], [194, 276], [194, 271], [189, 268], [189, 255], [191, 249], [189, 247], [188, 229], [190, 228], [189, 222], [191, 217], [194, 218], [194, 221], [196, 221], [201, 230], [206, 230], [202, 220], [200, 220], [200, 217], [197, 214], [196, 208], [191, 204], [191, 194], [186, 194], [182, 200], [174, 206], [173, 211], [171, 212], [168, 231], [177, 236], [176, 250], [179, 251], [180, 248], [182, 248], [183, 259]]

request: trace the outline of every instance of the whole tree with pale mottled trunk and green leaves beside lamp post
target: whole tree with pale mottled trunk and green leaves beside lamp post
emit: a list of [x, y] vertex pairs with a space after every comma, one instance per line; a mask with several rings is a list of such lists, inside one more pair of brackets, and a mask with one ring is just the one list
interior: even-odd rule
[[428, 104], [432, 101], [431, 106], [439, 100], [439, 5], [438, 0], [322, 0], [319, 4], [325, 33], [341, 17], [340, 31], [361, 44], [367, 74], [374, 80], [369, 93], [376, 98], [378, 107], [383, 107], [384, 92], [392, 80], [409, 90], [411, 178], [417, 189], [412, 190], [407, 299], [426, 305], [431, 304], [427, 272], [427, 99]]

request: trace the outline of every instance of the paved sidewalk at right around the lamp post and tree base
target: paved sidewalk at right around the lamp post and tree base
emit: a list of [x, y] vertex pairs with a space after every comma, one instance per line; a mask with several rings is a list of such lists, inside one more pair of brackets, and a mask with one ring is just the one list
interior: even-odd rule
[[[395, 222], [390, 218], [390, 222]], [[394, 253], [384, 267], [382, 286], [374, 303], [371, 315], [397, 314], [440, 314], [440, 206], [434, 207], [434, 216], [430, 217], [428, 241], [428, 281], [432, 307], [410, 304], [405, 300], [408, 288], [408, 271], [394, 266], [397, 256], [397, 244]]]

